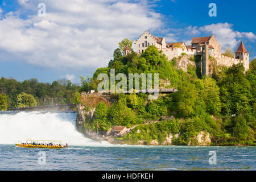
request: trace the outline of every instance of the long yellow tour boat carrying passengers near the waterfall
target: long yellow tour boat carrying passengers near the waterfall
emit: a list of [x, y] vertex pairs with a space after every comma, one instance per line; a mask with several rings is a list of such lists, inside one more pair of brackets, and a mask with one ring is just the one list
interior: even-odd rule
[[27, 139], [27, 142], [16, 143], [18, 147], [24, 148], [67, 148], [68, 144], [63, 146], [61, 140], [31, 140]]

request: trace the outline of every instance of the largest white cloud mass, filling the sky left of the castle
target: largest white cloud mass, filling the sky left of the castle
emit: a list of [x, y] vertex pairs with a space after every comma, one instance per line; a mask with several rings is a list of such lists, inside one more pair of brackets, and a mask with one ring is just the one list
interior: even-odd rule
[[[18, 60], [55, 69], [105, 67], [118, 42], [162, 26], [161, 16], [146, 3], [121, 0], [19, 0], [20, 10], [0, 19], [1, 60]], [[26, 19], [19, 14], [30, 12]], [[31, 11], [34, 15], [31, 15]]]

